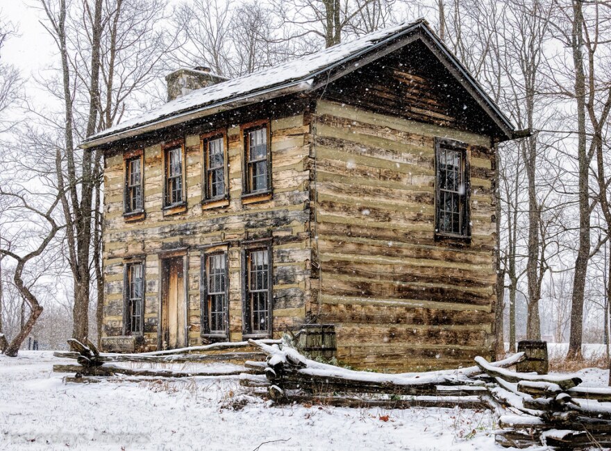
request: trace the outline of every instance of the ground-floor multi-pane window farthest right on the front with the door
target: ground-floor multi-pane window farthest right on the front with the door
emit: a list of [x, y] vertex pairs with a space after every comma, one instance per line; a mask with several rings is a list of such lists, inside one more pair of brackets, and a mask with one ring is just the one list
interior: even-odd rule
[[271, 298], [269, 249], [246, 250], [246, 332], [268, 334]]

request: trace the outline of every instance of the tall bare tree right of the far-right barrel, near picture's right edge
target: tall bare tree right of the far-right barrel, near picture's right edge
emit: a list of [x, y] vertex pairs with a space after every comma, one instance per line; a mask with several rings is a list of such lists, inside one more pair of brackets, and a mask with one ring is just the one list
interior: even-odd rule
[[[608, 52], [608, 40], [603, 38], [609, 21], [609, 18], [605, 17], [609, 11], [608, 5], [604, 7], [605, 4], [585, 3], [583, 0], [573, 0], [567, 4], [554, 0], [553, 11], [558, 17], [551, 22], [555, 38], [565, 48], [570, 49], [572, 62], [569, 72], [563, 71], [564, 68], [560, 65], [555, 67], [556, 74], [553, 75], [551, 84], [556, 95], [570, 99], [576, 108], [574, 124], [569, 125], [571, 130], [574, 130], [577, 144], [576, 197], [579, 217], [569, 337], [569, 357], [574, 358], [582, 357], [583, 312], [589, 259], [601, 246], [599, 243], [592, 248], [591, 216], [599, 201], [605, 201], [592, 196], [590, 187], [592, 160], [597, 148], [602, 145], [601, 133], [609, 114], [608, 110], [605, 111], [606, 102], [600, 96], [608, 90], [608, 82], [601, 83], [601, 74], [605, 69], [599, 67], [600, 61], [604, 60], [603, 55]], [[599, 194], [602, 192], [599, 189]]]

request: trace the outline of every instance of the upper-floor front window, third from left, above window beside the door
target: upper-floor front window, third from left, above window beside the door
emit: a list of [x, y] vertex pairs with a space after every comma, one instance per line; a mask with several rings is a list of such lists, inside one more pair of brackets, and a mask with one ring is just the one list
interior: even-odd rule
[[210, 133], [201, 137], [204, 202], [217, 201], [226, 198], [228, 194], [225, 142], [223, 132]]

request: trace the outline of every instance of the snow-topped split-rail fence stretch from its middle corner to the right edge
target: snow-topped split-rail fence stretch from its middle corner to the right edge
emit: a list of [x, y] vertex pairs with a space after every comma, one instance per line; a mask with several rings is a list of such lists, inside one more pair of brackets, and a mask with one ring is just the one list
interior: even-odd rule
[[[579, 387], [582, 380], [574, 375], [508, 370], [524, 359], [523, 353], [493, 363], [476, 357], [476, 366], [457, 370], [389, 375], [345, 370], [306, 359], [292, 348], [250, 343], [267, 355], [265, 376], [244, 374], [241, 383], [267, 389], [269, 397], [278, 402], [385, 408], [489, 407], [500, 415], [501, 429], [495, 431], [495, 441], [505, 447], [611, 445], [611, 389]], [[261, 368], [249, 362], [246, 366]], [[363, 393], [390, 398], [351, 397]]]

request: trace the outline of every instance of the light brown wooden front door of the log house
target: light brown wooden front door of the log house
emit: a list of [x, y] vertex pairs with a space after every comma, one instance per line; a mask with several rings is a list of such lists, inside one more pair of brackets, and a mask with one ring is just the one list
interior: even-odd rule
[[187, 346], [187, 299], [183, 257], [164, 259], [162, 264], [162, 348]]

